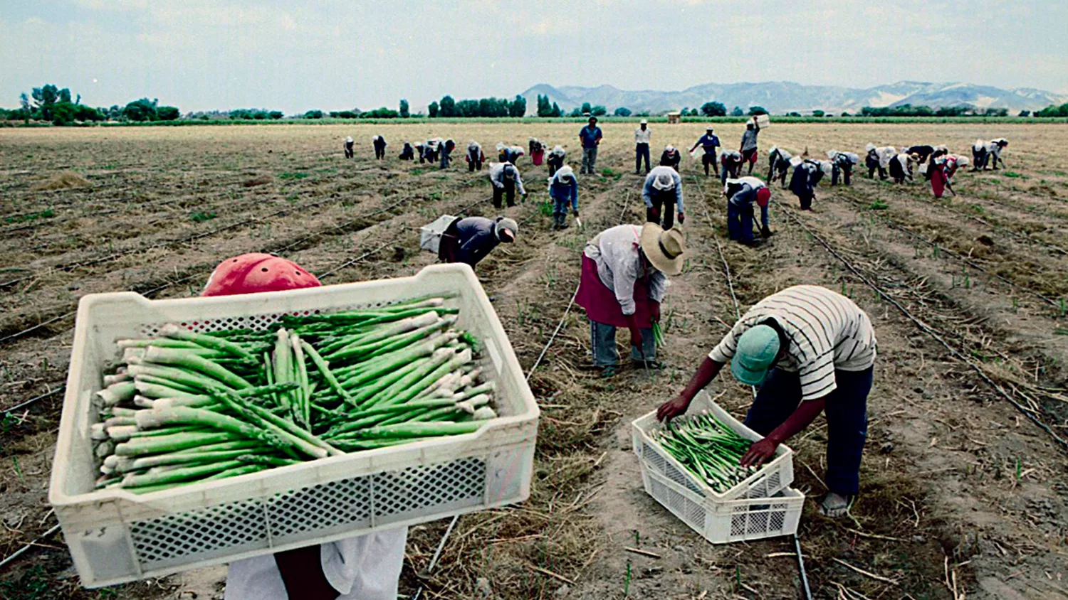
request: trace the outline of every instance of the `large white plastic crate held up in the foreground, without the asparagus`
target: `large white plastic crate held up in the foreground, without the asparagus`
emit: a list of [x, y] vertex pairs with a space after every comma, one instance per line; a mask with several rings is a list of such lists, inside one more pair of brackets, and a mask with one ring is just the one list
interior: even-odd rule
[[[457, 325], [485, 344], [500, 418], [473, 434], [323, 458], [137, 496], [94, 490], [89, 426], [115, 341], [166, 323], [265, 328], [281, 314], [381, 306], [453, 292]], [[148, 301], [81, 298], [48, 499], [82, 584], [98, 587], [521, 502], [530, 494], [538, 407], [497, 313], [466, 264], [414, 277], [287, 292]]]

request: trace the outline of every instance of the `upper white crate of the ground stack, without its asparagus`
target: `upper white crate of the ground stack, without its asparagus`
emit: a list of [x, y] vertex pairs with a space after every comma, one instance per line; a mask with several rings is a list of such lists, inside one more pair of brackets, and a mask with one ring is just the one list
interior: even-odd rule
[[[707, 410], [743, 438], [756, 441], [764, 437], [712, 402], [706, 391], [702, 391], [693, 399], [687, 415], [696, 415], [702, 410]], [[775, 449], [775, 456], [765, 463], [755, 473], [727, 491], [718, 492], [687, 470], [681, 463], [653, 439], [649, 433], [661, 426], [662, 424], [657, 420], [656, 410], [635, 419], [632, 423], [633, 435], [631, 439], [634, 454], [641, 460], [642, 468], [648, 468], [702, 498], [720, 502], [739, 498], [768, 498], [794, 483], [794, 451], [785, 444], [779, 444], [779, 448]]]

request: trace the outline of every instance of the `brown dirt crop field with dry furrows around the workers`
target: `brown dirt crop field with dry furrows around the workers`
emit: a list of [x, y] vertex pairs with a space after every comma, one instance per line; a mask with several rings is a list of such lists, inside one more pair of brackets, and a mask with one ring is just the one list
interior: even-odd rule
[[[418, 226], [441, 213], [492, 214], [485, 175], [462, 150], [446, 172], [396, 160], [403, 139], [473, 137], [491, 149], [535, 135], [566, 143], [579, 125], [397, 125], [0, 129], [0, 407], [59, 389], [73, 311], [85, 293], [198, 293], [222, 258], [276, 252], [325, 282], [409, 275], [434, 261]], [[864, 144], [944, 143], [970, 155], [1004, 136], [1007, 169], [960, 173], [936, 201], [922, 178], [855, 177], [817, 192], [816, 211], [773, 188], [771, 242], [725, 239], [719, 182], [685, 158], [684, 230], [696, 255], [663, 308], [669, 369], [602, 380], [588, 362], [581, 309], [565, 313], [584, 241], [641, 223], [632, 125], [606, 126], [601, 176], [580, 179], [584, 229], [549, 230], [546, 171], [520, 161], [531, 191], [509, 215], [517, 244], [478, 265], [524, 368], [564, 327], [531, 385], [543, 406], [531, 500], [462, 517], [428, 584], [429, 598], [798, 598], [788, 538], [712, 546], [642, 490], [630, 421], [671, 398], [740, 309], [795, 283], [843, 291], [868, 311], [880, 358], [869, 399], [862, 496], [852, 518], [806, 503], [798, 532], [817, 598], [1068, 597], [1068, 128], [1033, 125], [778, 125], [772, 145], [814, 156]], [[993, 129], [991, 129], [993, 128]], [[689, 148], [698, 125], [654, 126]], [[718, 127], [734, 146], [738, 125]], [[370, 137], [390, 142], [375, 162]], [[357, 140], [346, 161], [341, 139]], [[489, 152], [487, 152], [489, 153]], [[79, 178], [60, 180], [65, 172]], [[61, 184], [73, 185], [50, 190]], [[45, 189], [42, 189], [45, 188]], [[878, 200], [878, 201], [877, 201]], [[724, 274], [729, 269], [731, 283]], [[710, 390], [736, 415], [751, 400], [729, 377]], [[54, 524], [47, 483], [61, 393], [19, 407], [0, 429], [0, 555]], [[795, 487], [821, 483], [822, 418], [788, 443]], [[1058, 441], [1061, 440], [1061, 441]], [[419, 584], [445, 523], [415, 528], [402, 589]], [[659, 557], [625, 550], [637, 547]], [[111, 590], [82, 590], [59, 536], [0, 572], [0, 598], [213, 598], [225, 570], [190, 571]]]

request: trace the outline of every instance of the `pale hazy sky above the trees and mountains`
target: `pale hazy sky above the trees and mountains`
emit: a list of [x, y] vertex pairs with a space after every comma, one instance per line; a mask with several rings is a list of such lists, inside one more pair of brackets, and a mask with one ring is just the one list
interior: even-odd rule
[[789, 80], [1068, 93], [1068, 2], [0, 0], [0, 106], [412, 111], [443, 94]]

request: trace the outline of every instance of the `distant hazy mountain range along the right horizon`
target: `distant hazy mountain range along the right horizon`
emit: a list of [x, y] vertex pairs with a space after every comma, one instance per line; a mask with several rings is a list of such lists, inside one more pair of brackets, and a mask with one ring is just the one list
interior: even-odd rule
[[859, 112], [864, 107], [895, 107], [900, 104], [925, 104], [931, 108], [967, 104], [977, 109], [1008, 109], [1009, 114], [1018, 111], [1034, 111], [1050, 104], [1068, 102], [1068, 96], [1016, 87], [1002, 90], [989, 85], [971, 83], [928, 83], [922, 81], [898, 81], [890, 85], [875, 87], [838, 87], [832, 85], [801, 85], [790, 81], [765, 81], [759, 83], [704, 83], [677, 92], [657, 90], [619, 90], [612, 85], [580, 87], [562, 85], [554, 87], [539, 83], [521, 95], [527, 98], [528, 111], [537, 107], [537, 96], [548, 95], [565, 111], [581, 107], [583, 102], [601, 104], [609, 113], [618, 107], [627, 107], [633, 112], [648, 111], [662, 113], [682, 108], [701, 108], [710, 100], [723, 102], [727, 110], [741, 107], [764, 107], [772, 114], [797, 111], [807, 113], [822, 110], [829, 113], [843, 111]]

